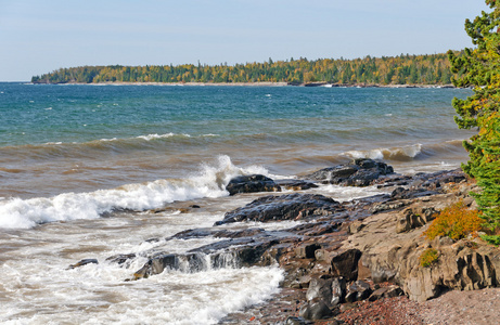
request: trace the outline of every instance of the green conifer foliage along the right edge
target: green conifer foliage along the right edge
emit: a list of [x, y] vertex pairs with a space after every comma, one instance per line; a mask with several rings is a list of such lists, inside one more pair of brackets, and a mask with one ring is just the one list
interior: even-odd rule
[[466, 100], [452, 102], [462, 129], [477, 128], [478, 133], [464, 147], [470, 160], [463, 170], [477, 180], [480, 193], [476, 202], [486, 225], [500, 229], [500, 0], [486, 0], [492, 10], [483, 12], [473, 22], [465, 21], [465, 30], [474, 49], [461, 54], [449, 51], [453, 73], [460, 77], [452, 81], [457, 87], [472, 87], [474, 94]]

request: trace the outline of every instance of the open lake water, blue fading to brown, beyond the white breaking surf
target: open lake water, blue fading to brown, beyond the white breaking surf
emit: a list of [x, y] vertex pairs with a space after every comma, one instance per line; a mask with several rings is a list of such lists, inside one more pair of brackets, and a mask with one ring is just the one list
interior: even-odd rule
[[358, 156], [458, 167], [463, 89], [0, 83], [0, 197], [183, 179], [229, 156], [295, 176]]

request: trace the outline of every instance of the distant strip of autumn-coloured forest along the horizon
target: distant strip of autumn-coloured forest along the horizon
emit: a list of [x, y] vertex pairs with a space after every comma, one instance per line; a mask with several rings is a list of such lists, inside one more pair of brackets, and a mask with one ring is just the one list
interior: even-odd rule
[[102, 82], [287, 82], [338, 84], [449, 84], [447, 54], [382, 56], [356, 60], [320, 58], [235, 65], [80, 66], [34, 76], [34, 83]]

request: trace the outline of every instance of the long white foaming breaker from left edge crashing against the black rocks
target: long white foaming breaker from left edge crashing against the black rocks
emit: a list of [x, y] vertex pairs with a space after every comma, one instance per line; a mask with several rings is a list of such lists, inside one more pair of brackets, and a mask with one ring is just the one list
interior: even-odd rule
[[142, 184], [128, 184], [114, 190], [90, 193], [64, 193], [54, 197], [0, 200], [0, 227], [28, 229], [37, 224], [97, 219], [114, 210], [145, 210], [175, 200], [227, 196], [226, 185], [238, 174], [264, 173], [253, 166], [238, 168], [228, 156], [220, 156], [217, 166], [204, 165], [202, 171], [183, 180], [157, 180]]

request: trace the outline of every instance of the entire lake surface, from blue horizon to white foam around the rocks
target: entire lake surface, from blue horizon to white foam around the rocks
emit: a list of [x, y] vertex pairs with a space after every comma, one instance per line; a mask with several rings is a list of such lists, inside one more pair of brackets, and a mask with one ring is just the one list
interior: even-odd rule
[[[234, 176], [296, 178], [358, 157], [400, 173], [459, 167], [471, 132], [457, 128], [450, 102], [471, 93], [0, 83], [0, 321], [209, 324], [261, 302], [278, 291], [277, 266], [125, 280], [141, 252], [215, 242], [145, 240], [211, 226], [258, 196], [228, 197]], [[380, 193], [316, 191], [339, 200]], [[202, 208], [180, 213], [183, 202]], [[128, 252], [139, 256], [128, 268], [105, 261]], [[85, 258], [100, 263], [66, 270]]]

